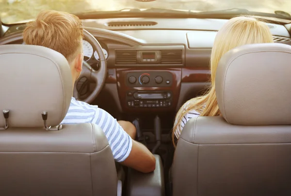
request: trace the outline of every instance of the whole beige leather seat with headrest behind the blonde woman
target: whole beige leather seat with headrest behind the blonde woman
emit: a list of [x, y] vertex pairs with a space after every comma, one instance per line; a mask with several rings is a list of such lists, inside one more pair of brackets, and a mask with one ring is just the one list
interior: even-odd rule
[[174, 196], [291, 195], [291, 46], [244, 45], [220, 61], [221, 117], [188, 121]]

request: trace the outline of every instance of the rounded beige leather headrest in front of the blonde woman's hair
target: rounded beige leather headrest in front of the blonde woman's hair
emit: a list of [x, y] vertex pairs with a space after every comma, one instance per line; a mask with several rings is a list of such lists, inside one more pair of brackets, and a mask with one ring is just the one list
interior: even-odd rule
[[218, 64], [215, 88], [228, 123], [291, 124], [291, 46], [252, 44], [228, 51]]

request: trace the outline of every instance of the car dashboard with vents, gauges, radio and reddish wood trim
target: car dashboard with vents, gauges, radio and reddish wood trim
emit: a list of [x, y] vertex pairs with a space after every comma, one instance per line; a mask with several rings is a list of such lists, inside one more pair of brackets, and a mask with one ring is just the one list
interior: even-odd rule
[[[82, 22], [100, 43], [107, 60], [106, 96], [111, 96], [121, 113], [150, 113], [175, 112], [183, 102], [205, 91], [210, 84], [210, 54], [216, 31], [226, 21], [112, 18]], [[275, 42], [291, 45], [290, 25], [267, 25]], [[9, 27], [0, 44], [21, 44], [19, 32], [24, 28], [23, 24]], [[98, 69], [98, 54], [86, 40], [83, 54], [84, 60]]]

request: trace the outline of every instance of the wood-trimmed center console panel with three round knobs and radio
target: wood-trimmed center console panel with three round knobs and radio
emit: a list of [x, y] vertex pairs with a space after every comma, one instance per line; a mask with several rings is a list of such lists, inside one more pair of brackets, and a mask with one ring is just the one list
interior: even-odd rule
[[126, 111], [173, 111], [180, 90], [180, 68], [116, 69], [119, 98]]

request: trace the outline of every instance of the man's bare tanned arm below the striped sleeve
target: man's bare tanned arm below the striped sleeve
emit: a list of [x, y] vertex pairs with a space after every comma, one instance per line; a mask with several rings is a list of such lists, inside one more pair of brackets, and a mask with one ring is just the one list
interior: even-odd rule
[[143, 173], [149, 173], [156, 168], [156, 158], [144, 145], [132, 140], [130, 154], [121, 164]]

